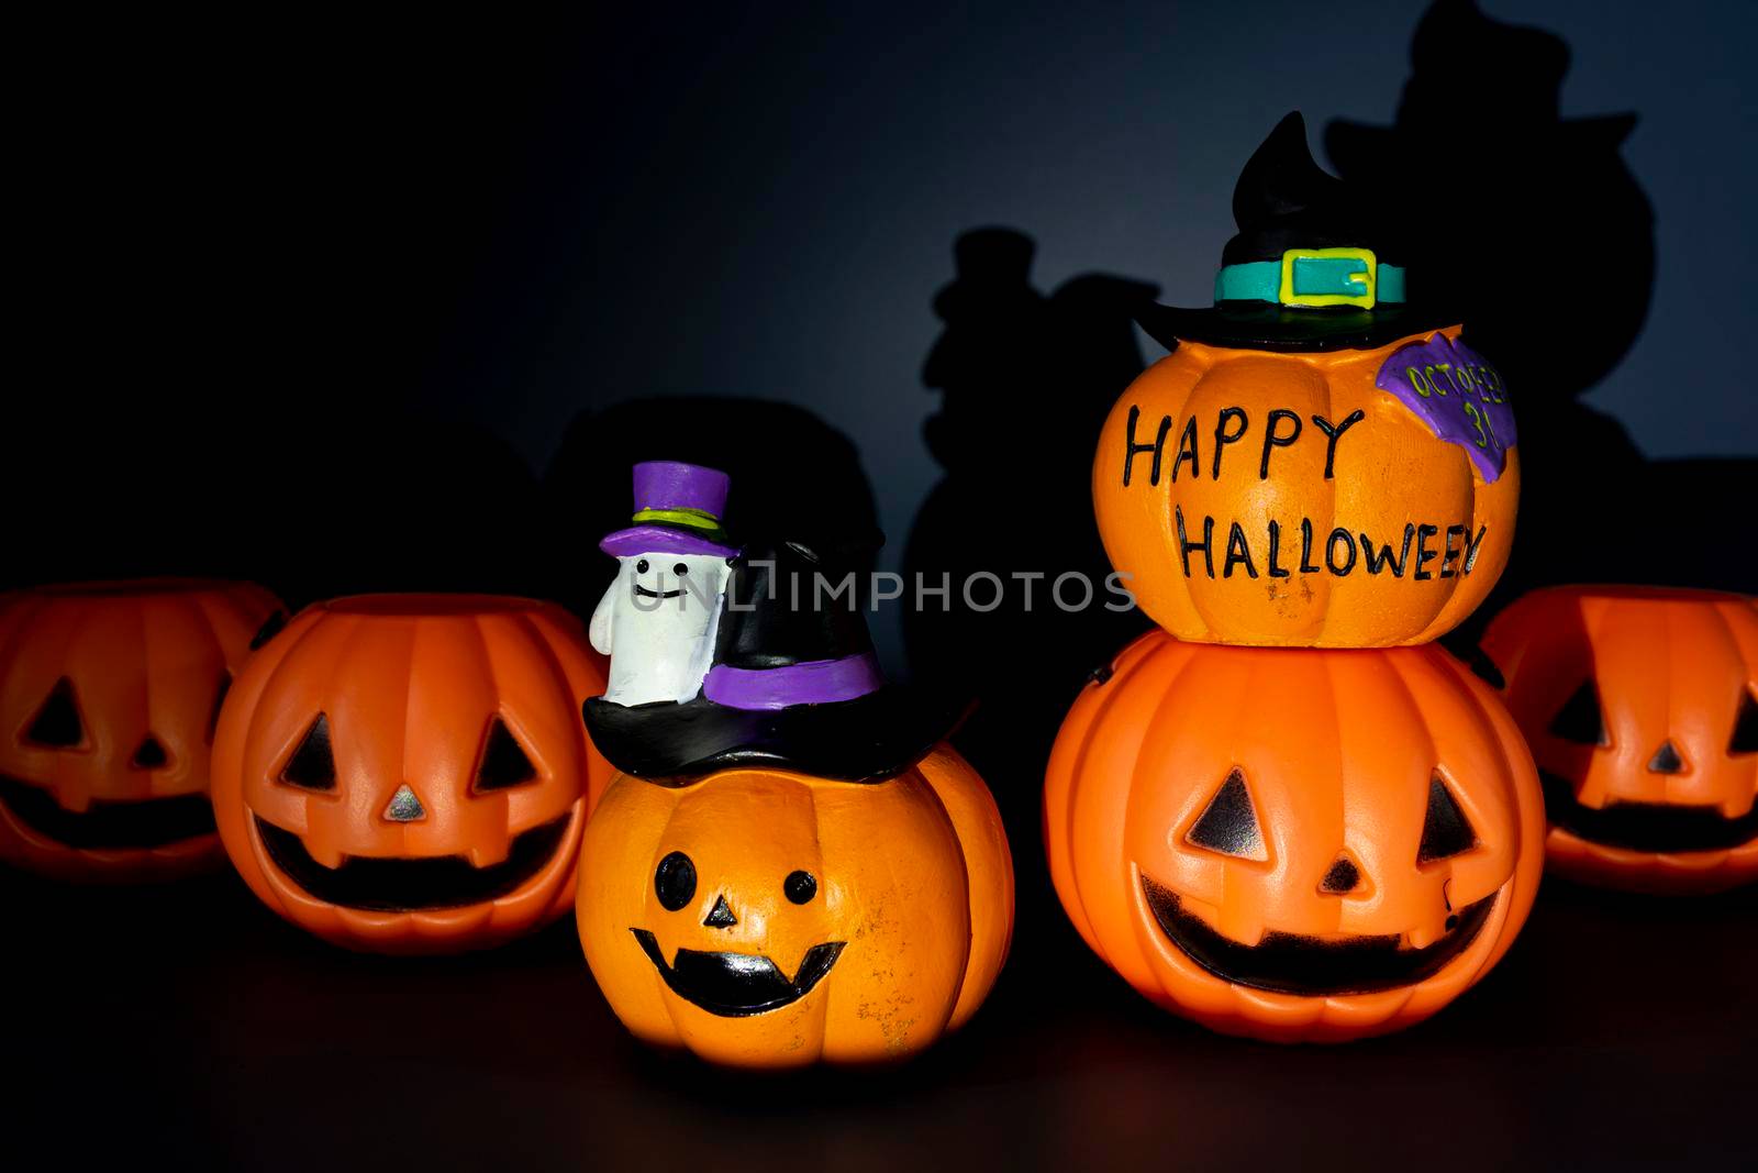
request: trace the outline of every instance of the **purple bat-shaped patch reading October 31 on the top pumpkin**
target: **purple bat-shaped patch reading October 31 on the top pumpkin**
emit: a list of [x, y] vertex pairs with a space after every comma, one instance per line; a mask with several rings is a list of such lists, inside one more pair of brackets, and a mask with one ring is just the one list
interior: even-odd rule
[[1501, 477], [1514, 433], [1514, 408], [1496, 368], [1464, 343], [1435, 334], [1399, 346], [1373, 380], [1398, 396], [1442, 440], [1471, 454], [1484, 480]]

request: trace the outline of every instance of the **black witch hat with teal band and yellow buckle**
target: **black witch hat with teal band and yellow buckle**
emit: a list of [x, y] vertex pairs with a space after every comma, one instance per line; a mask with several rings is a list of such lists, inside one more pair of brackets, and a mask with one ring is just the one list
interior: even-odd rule
[[1403, 248], [1336, 176], [1313, 162], [1306, 121], [1290, 113], [1269, 132], [1232, 190], [1238, 236], [1222, 250], [1215, 304], [1148, 306], [1148, 334], [1248, 350], [1384, 346], [1450, 325], [1443, 310], [1410, 301]]

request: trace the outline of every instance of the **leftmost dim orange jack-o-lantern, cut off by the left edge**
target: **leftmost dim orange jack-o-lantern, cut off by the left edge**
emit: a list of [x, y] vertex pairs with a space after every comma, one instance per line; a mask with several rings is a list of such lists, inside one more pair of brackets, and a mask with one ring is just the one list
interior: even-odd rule
[[216, 865], [214, 718], [278, 614], [272, 594], [243, 582], [0, 598], [0, 860], [118, 881]]

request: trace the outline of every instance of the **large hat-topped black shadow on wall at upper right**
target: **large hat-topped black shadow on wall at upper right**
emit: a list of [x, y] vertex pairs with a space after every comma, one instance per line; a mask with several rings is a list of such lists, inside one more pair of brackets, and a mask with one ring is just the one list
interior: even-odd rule
[[[1621, 155], [1637, 116], [1563, 118], [1568, 46], [1473, 0], [1436, 0], [1410, 60], [1394, 123], [1331, 123], [1326, 148], [1345, 179], [1380, 193], [1412, 271], [1443, 283], [1464, 339], [1514, 394], [1514, 556], [1449, 642], [1558, 582], [1758, 591], [1758, 461], [1647, 461], [1582, 403], [1635, 343], [1654, 288], [1654, 211]], [[1496, 62], [1496, 84], [1461, 84], [1461, 62]], [[1679, 375], [1651, 394], [1689, 410], [1684, 355]]]

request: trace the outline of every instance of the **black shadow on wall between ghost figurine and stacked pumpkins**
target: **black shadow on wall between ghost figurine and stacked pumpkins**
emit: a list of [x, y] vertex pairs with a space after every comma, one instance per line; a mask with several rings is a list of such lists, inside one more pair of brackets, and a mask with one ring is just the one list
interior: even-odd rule
[[[969, 710], [953, 744], [995, 793], [1014, 858], [1035, 860], [1057, 728], [1088, 674], [1148, 626], [1106, 607], [1122, 600], [1106, 586], [1092, 463], [1106, 413], [1143, 368], [1134, 310], [1159, 290], [1090, 274], [1041, 294], [1034, 243], [1013, 229], [965, 232], [953, 253], [956, 280], [933, 299], [946, 327], [921, 373], [941, 392], [923, 433], [946, 475], [904, 552], [905, 589], [948, 594], [905, 608], [904, 645], [916, 686]], [[1037, 899], [1053, 904], [1048, 878], [1021, 867], [1016, 951], [1039, 944], [1035, 925], [1060, 923], [1028, 914]]]

